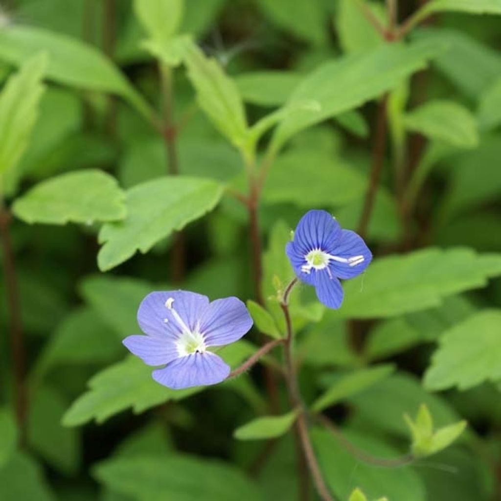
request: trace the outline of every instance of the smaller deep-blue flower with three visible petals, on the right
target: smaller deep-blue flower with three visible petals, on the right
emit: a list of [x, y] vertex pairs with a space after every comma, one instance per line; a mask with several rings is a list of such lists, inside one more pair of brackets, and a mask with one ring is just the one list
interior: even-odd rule
[[298, 278], [315, 286], [319, 301], [329, 308], [343, 302], [338, 279], [360, 275], [372, 260], [362, 237], [341, 229], [325, 210], [310, 210], [301, 218], [286, 252]]

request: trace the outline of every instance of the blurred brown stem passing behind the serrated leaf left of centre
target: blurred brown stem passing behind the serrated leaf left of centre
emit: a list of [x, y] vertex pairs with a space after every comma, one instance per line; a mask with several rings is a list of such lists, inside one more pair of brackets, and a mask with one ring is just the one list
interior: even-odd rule
[[[160, 63], [160, 80], [163, 95], [163, 139], [167, 153], [167, 169], [171, 176], [179, 174], [179, 163], [177, 158], [177, 127], [174, 122], [173, 103], [173, 75], [172, 69]], [[174, 243], [172, 246], [172, 281], [175, 284], [182, 282], [185, 268], [185, 242], [182, 231], [174, 233]]]

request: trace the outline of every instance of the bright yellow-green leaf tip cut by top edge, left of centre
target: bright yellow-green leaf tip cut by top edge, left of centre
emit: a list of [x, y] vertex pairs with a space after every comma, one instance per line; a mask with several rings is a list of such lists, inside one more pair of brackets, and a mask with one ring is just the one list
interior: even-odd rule
[[181, 23], [184, 0], [134, 0], [134, 12], [154, 41], [168, 42]]

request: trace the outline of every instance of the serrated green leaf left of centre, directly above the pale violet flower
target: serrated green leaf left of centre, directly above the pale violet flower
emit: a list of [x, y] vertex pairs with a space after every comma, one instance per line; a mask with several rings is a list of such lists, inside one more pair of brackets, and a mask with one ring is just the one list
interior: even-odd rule
[[184, 176], [148, 181], [126, 192], [128, 216], [107, 223], [99, 232], [103, 244], [98, 254], [101, 271], [127, 261], [173, 231], [212, 210], [222, 196], [222, 186], [210, 179]]

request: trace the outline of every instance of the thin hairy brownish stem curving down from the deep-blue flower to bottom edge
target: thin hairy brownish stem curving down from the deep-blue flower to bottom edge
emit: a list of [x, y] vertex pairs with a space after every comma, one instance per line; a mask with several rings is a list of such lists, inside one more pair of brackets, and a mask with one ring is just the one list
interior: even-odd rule
[[313, 445], [308, 431], [308, 423], [306, 420], [307, 412], [303, 400], [301, 398], [301, 393], [299, 391], [296, 367], [294, 364], [294, 356], [293, 356], [294, 332], [292, 328], [291, 314], [289, 312], [289, 295], [294, 286], [297, 284], [297, 282], [298, 280], [294, 279], [293, 282], [291, 282], [291, 284], [289, 284], [289, 286], [286, 288], [284, 299], [280, 305], [282, 307], [282, 311], [284, 312], [286, 331], [287, 331], [287, 337], [284, 345], [287, 388], [289, 390], [289, 396], [293, 407], [298, 409], [296, 429], [304, 452], [304, 457], [306, 459], [308, 468], [315, 483], [315, 487], [318, 491], [318, 494], [323, 499], [323, 501], [333, 501], [334, 498], [332, 497], [331, 493], [327, 488], [327, 485], [325, 484], [322, 472], [320, 470], [320, 465], [317, 461], [317, 457], [315, 456], [315, 452], [313, 450]]

